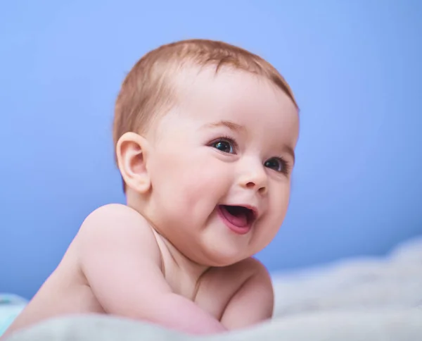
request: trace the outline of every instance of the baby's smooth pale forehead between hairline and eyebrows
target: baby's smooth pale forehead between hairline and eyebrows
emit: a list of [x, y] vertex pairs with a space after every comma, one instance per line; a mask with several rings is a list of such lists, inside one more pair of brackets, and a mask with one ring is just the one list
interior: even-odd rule
[[[267, 137], [298, 137], [298, 110], [274, 83], [241, 70], [193, 69], [177, 79], [177, 109], [170, 113], [174, 124], [196, 128], [219, 121], [242, 125], [245, 130], [265, 132]], [[285, 139], [286, 140], [286, 139]]]

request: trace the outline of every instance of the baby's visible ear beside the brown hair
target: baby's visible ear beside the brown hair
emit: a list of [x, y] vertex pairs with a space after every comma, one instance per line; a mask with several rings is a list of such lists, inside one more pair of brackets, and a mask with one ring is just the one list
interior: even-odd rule
[[148, 142], [135, 132], [124, 133], [116, 144], [117, 165], [127, 187], [144, 194], [150, 190], [151, 179], [146, 169]]

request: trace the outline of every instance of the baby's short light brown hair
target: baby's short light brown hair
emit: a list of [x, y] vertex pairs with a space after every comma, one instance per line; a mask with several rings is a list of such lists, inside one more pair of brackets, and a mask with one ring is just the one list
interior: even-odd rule
[[186, 66], [215, 66], [215, 73], [229, 66], [261, 75], [271, 80], [298, 106], [283, 76], [260, 56], [224, 42], [182, 40], [148, 52], [127, 74], [115, 104], [115, 146], [125, 132], [145, 132], [151, 120], [170, 109], [176, 100], [172, 86], [175, 76]]

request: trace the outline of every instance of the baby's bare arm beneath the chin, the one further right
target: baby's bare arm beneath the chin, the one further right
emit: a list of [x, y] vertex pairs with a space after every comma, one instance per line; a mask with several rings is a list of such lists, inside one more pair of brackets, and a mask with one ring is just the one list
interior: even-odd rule
[[252, 268], [252, 274], [238, 288], [224, 310], [221, 322], [225, 328], [245, 328], [268, 320], [274, 309], [274, 290], [267, 269], [255, 259], [241, 266]]

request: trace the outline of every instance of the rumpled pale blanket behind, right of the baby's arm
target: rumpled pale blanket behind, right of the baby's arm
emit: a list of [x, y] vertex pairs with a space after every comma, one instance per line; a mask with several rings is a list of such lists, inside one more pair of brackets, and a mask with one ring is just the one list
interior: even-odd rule
[[274, 275], [273, 282], [276, 316], [422, 309], [422, 237], [400, 244], [384, 257], [347, 259], [290, 275]]

